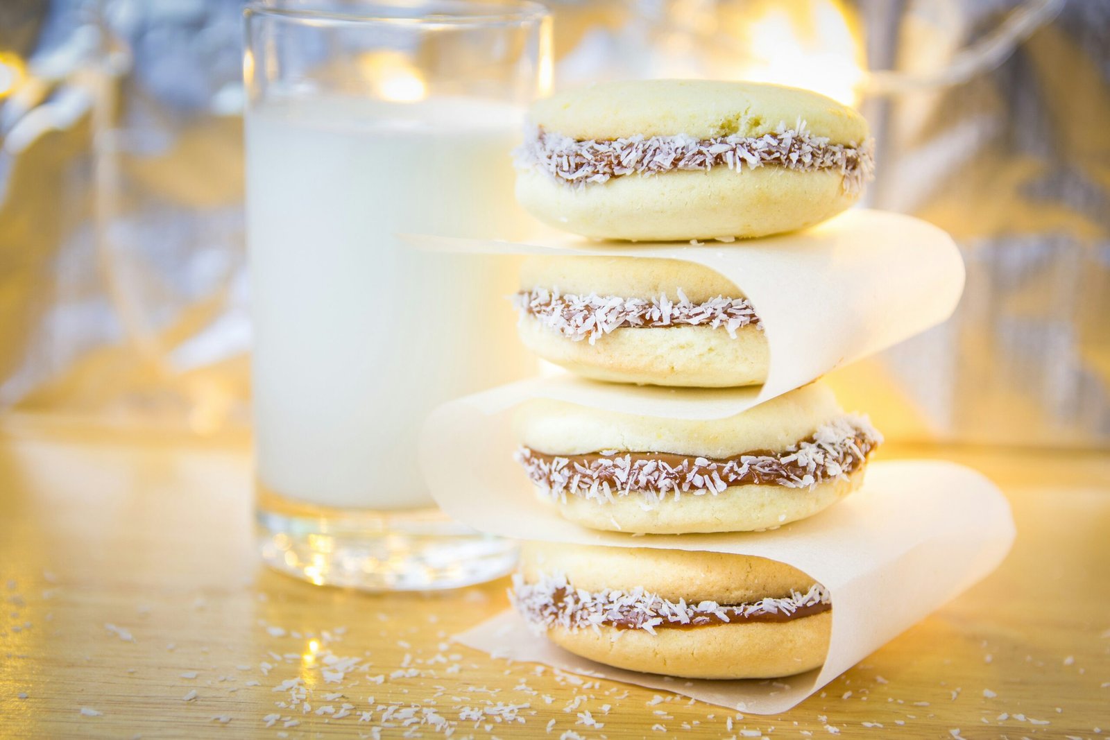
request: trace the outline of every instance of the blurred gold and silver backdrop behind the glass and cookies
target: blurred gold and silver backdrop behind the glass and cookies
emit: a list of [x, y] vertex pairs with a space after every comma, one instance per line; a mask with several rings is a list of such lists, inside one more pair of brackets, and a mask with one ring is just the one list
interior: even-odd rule
[[[830, 378], [888, 437], [1110, 446], [1110, 4], [548, 3], [556, 88], [755, 79], [860, 107], [867, 205], [948, 230], [957, 315]], [[0, 6], [0, 408], [249, 425], [241, 3]], [[422, 94], [402, 60], [367, 79]], [[506, 311], [509, 311], [506, 304]]]

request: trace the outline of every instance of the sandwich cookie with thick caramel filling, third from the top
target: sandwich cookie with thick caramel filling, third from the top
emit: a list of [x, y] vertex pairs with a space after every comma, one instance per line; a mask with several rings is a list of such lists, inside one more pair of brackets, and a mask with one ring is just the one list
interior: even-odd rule
[[749, 531], [804, 519], [862, 485], [881, 435], [811, 384], [719, 419], [522, 404], [516, 460], [566, 519], [635, 534]]

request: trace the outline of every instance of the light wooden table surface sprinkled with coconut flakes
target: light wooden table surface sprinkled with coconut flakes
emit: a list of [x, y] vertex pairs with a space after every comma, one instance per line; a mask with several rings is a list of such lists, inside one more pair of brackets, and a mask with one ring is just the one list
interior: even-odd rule
[[0, 737], [1110, 734], [1107, 454], [885, 448], [997, 480], [1013, 551], [818, 696], [740, 718], [452, 643], [505, 580], [371, 596], [269, 571], [245, 440], [2, 429]]

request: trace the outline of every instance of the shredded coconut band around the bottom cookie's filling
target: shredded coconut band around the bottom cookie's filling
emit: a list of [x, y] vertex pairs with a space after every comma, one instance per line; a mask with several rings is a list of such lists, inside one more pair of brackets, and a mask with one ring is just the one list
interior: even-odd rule
[[713, 618], [727, 622], [736, 616], [793, 615], [801, 607], [830, 604], [829, 592], [820, 584], [814, 584], [805, 594], [790, 591], [787, 597], [767, 597], [751, 604], [687, 604], [685, 599], [664, 599], [640, 587], [627, 591], [606, 588], [591, 592], [574, 588], [563, 574], [539, 574], [534, 584], [526, 584], [521, 574], [516, 574], [508, 598], [536, 630], [565, 627], [596, 631], [619, 622], [652, 635], [659, 626], [707, 625], [713, 622]]

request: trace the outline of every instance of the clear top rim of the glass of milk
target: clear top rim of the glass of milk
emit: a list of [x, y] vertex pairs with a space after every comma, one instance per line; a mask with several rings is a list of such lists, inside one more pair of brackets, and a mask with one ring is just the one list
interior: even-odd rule
[[[549, 17], [546, 6], [533, 0], [508, 0], [507, 2], [474, 2], [473, 0], [373, 0], [364, 6], [365, 11], [329, 10], [326, 0], [287, 2], [287, 0], [248, 0], [243, 16], [264, 16], [290, 22], [303, 23], [366, 23], [383, 26], [417, 27], [472, 27], [515, 26], [541, 22]], [[411, 16], [385, 16], [375, 10], [395, 8], [411, 10]], [[440, 10], [418, 14], [421, 8]], [[443, 9], [456, 10], [453, 14]], [[490, 12], [476, 12], [486, 9]]]

